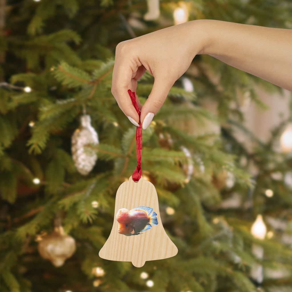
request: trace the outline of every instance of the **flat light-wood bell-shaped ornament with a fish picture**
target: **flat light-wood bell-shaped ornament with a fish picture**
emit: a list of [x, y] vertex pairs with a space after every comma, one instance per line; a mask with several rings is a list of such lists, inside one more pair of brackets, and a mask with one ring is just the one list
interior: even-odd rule
[[[129, 232], [132, 235], [119, 233], [121, 232], [120, 224], [128, 224], [121, 220], [120, 222], [122, 223], [119, 223], [117, 221], [117, 217], [119, 218], [117, 213], [127, 212], [125, 209], [128, 209], [130, 213], [142, 209], [142, 214], [142, 207], [145, 207], [145, 214], [147, 213], [146, 215], [151, 217], [152, 221], [150, 218], [149, 223], [145, 221], [144, 228], [138, 227], [138, 229], [143, 228], [142, 230], [135, 230], [138, 224], [134, 228], [131, 227]], [[170, 258], [178, 253], [178, 248], [163, 228], [155, 187], [149, 181], [144, 180], [143, 177], [138, 182], [135, 182], [131, 176], [129, 181], [120, 185], [117, 191], [114, 215], [112, 231], [99, 252], [101, 258], [106, 260], [128, 261], [132, 262], [135, 267], [142, 267], [147, 260]], [[141, 222], [141, 220], [140, 216], [138, 221]], [[142, 225], [140, 223], [140, 226]]]

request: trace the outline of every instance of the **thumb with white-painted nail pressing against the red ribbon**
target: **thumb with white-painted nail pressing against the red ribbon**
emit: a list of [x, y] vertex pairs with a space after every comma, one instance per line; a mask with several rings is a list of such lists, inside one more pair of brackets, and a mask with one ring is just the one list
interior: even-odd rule
[[141, 109], [140, 121], [144, 130], [149, 126], [154, 115], [163, 105], [171, 86], [173, 86], [173, 83], [169, 80], [165, 81], [162, 78], [154, 79], [152, 91]]

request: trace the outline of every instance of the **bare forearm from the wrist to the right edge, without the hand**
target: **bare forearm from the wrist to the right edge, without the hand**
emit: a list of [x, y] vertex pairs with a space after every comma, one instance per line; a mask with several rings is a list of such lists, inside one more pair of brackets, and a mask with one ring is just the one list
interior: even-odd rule
[[199, 22], [204, 40], [201, 53], [292, 91], [291, 29]]

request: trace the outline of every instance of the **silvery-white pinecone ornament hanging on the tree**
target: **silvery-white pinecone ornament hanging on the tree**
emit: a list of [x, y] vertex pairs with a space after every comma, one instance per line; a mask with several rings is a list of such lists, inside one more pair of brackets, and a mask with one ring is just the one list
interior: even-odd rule
[[80, 118], [81, 125], [72, 135], [72, 156], [77, 171], [87, 175], [95, 165], [97, 154], [87, 144], [98, 144], [98, 134], [91, 126], [91, 118], [84, 114]]

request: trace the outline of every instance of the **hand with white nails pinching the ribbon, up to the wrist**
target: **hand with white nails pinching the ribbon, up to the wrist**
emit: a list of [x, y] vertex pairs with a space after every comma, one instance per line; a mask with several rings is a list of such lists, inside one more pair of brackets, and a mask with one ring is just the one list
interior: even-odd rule
[[154, 114], [163, 105], [174, 82], [185, 73], [194, 56], [202, 49], [202, 33], [199, 21], [146, 34], [123, 41], [116, 48], [116, 59], [112, 76], [112, 94], [124, 114], [136, 126], [139, 116], [128, 95], [128, 89], [136, 91], [137, 80], [146, 70], [154, 77], [152, 91], [142, 106], [140, 121], [145, 129]]

